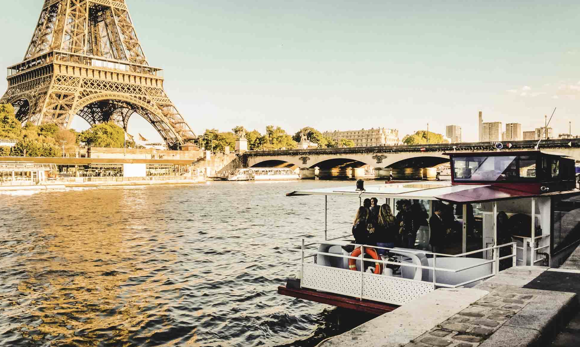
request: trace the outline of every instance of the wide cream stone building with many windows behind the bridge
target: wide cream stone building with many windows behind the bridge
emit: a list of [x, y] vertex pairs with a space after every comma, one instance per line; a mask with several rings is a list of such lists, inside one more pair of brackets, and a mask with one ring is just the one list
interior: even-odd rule
[[322, 135], [335, 141], [340, 141], [341, 138], [353, 140], [356, 147], [396, 146], [401, 144], [398, 129], [385, 129], [384, 127], [368, 130], [346, 130], [345, 132], [335, 130], [333, 132], [324, 132]]

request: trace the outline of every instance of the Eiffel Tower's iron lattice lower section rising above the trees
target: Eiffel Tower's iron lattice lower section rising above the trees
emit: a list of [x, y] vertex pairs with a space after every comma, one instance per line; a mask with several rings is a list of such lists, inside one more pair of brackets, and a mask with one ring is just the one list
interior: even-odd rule
[[22, 123], [64, 129], [78, 115], [126, 130], [139, 114], [177, 148], [195, 134], [165, 93], [162, 72], [148, 64], [125, 0], [45, 0], [0, 103], [12, 104]]

